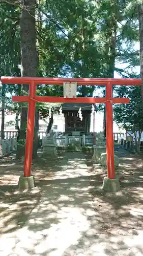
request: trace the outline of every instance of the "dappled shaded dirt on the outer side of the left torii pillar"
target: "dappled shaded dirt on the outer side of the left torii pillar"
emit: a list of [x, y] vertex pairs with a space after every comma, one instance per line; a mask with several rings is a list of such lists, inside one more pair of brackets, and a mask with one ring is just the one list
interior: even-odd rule
[[39, 202], [40, 190], [18, 191], [22, 170], [23, 165], [14, 156], [0, 161], [0, 234], [21, 228]]

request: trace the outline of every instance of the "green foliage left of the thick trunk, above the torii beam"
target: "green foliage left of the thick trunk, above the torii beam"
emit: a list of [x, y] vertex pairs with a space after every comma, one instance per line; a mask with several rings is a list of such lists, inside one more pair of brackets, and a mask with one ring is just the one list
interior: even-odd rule
[[0, 14], [0, 72], [1, 75], [17, 76], [20, 75], [18, 68], [20, 63], [20, 37], [18, 29], [20, 9], [1, 1]]

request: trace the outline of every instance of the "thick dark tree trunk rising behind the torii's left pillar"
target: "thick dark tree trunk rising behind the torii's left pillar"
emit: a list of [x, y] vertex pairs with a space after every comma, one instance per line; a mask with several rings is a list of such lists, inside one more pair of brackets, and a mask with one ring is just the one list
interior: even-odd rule
[[[21, 1], [20, 38], [21, 38], [21, 76], [36, 76], [38, 71], [38, 56], [36, 50], [36, 0]], [[28, 85], [23, 85], [24, 94], [28, 93]], [[35, 113], [35, 133], [33, 157], [37, 156], [38, 148], [38, 115]], [[26, 138], [27, 108], [21, 108], [20, 138], [17, 158], [24, 155]], [[20, 147], [20, 148], [19, 148]]]

